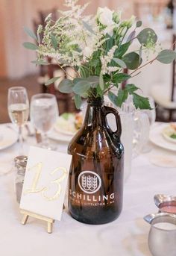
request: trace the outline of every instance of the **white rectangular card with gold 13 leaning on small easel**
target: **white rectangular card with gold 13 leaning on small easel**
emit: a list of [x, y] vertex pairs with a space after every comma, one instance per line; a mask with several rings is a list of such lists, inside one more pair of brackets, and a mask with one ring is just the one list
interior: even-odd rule
[[20, 209], [60, 220], [72, 156], [31, 146]]

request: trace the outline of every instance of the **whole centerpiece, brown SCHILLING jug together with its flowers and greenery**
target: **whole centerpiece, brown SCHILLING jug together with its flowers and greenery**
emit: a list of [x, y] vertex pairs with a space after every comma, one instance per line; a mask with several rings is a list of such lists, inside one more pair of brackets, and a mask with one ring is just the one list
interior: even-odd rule
[[[84, 16], [87, 4], [81, 7], [77, 0], [66, 0], [66, 7], [69, 10], [60, 11], [55, 22], [49, 14], [45, 28], [39, 25], [37, 35], [25, 28], [37, 44], [24, 46], [37, 51], [33, 61], [37, 65], [49, 65], [49, 57], [63, 72], [64, 66], [75, 70], [72, 79], [59, 84], [61, 93], [75, 95], [76, 107], [81, 107], [83, 99], [88, 103], [84, 124], [68, 148], [72, 154], [69, 212], [78, 221], [102, 224], [116, 219], [122, 210], [124, 154], [119, 113], [104, 106], [104, 95], [118, 107], [131, 96], [136, 108], [150, 110], [148, 98], [138, 94], [135, 84], [121, 84], [156, 60], [171, 63], [176, 53], [169, 49], [157, 52], [157, 34], [152, 28], [139, 31], [142, 22], [134, 16], [122, 20], [120, 12], [107, 7], [99, 7], [95, 16]], [[139, 47], [131, 51], [135, 40]], [[144, 51], [153, 51], [156, 56], [142, 63]], [[57, 79], [51, 78], [46, 84]], [[107, 123], [108, 113], [116, 117], [116, 131]]]

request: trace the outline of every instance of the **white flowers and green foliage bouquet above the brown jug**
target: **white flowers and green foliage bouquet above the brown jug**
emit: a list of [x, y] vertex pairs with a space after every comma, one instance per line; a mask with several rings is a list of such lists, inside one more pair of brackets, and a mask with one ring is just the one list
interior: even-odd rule
[[[49, 65], [47, 57], [51, 57], [65, 72], [64, 66], [71, 66], [76, 77], [64, 79], [59, 84], [62, 93], [75, 93], [76, 107], [81, 107], [81, 100], [88, 97], [103, 97], [107, 94], [110, 101], [121, 107], [122, 103], [133, 96], [133, 104], [139, 109], [151, 109], [148, 98], [137, 93], [139, 89], [127, 81], [140, 70], [158, 60], [161, 63], [172, 63], [176, 58], [175, 51], [160, 49], [157, 52], [157, 34], [151, 28], [144, 28], [141, 21], [132, 16], [122, 20], [119, 11], [107, 7], [98, 7], [95, 16], [84, 16], [83, 7], [78, 0], [66, 0], [69, 10], [60, 11], [60, 18], [52, 20], [51, 13], [45, 19], [45, 28], [39, 25], [37, 35], [25, 28], [37, 44], [24, 43], [27, 49], [37, 51], [37, 65]], [[131, 44], [137, 40], [136, 51], [131, 51]], [[156, 54], [152, 60], [142, 63], [143, 52]], [[124, 72], [128, 69], [128, 74]], [[46, 85], [57, 81], [59, 77], [50, 79]], [[116, 90], [114, 90], [116, 89]]]

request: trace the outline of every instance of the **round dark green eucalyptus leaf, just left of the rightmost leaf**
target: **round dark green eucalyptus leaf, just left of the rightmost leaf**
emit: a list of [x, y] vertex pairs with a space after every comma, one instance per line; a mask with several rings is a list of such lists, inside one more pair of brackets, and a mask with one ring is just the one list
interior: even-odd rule
[[140, 60], [139, 54], [136, 52], [129, 52], [123, 57], [124, 62], [126, 63], [128, 69], [137, 69], [140, 66], [142, 59]]

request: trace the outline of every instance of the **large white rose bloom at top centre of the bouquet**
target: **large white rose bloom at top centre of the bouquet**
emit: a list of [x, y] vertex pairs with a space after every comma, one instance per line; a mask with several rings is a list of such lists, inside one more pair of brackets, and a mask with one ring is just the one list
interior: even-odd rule
[[113, 11], [107, 7], [104, 7], [104, 8], [98, 7], [97, 18], [98, 18], [98, 21], [104, 26], [110, 26], [114, 24]]

